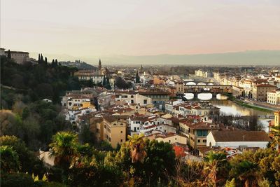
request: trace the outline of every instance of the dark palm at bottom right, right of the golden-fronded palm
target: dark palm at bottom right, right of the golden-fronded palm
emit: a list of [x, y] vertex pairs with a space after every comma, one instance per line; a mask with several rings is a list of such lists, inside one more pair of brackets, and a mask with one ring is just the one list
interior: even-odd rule
[[232, 172], [244, 182], [245, 187], [257, 186], [258, 181], [258, 164], [243, 160], [232, 168]]

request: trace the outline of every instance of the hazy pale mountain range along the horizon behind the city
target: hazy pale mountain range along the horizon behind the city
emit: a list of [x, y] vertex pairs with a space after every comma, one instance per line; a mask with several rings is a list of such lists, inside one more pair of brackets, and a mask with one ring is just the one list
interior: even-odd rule
[[[38, 53], [30, 53], [36, 57]], [[44, 54], [57, 60], [80, 59], [90, 64], [98, 64], [99, 57]], [[278, 65], [280, 66], [280, 50], [246, 50], [233, 53], [213, 53], [197, 55], [108, 55], [102, 57], [102, 64], [158, 64], [158, 65]]]

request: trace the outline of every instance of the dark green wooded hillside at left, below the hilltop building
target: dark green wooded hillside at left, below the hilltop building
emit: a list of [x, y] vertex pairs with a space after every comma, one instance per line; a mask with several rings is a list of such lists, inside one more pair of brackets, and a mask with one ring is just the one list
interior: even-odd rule
[[[57, 67], [45, 63], [43, 56], [39, 56], [38, 64], [16, 64], [13, 60], [1, 56], [1, 84], [25, 95], [30, 99], [29, 102], [48, 98], [58, 103], [59, 95], [64, 95], [65, 90], [80, 90], [78, 78], [71, 76], [71, 73], [78, 69]], [[8, 98], [3, 99], [9, 102]], [[8, 109], [11, 109], [10, 106]]]

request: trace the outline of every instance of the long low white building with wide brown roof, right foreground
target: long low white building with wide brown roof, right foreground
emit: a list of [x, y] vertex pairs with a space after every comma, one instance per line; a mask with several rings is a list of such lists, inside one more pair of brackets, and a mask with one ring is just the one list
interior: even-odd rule
[[207, 135], [207, 146], [239, 146], [266, 148], [270, 138], [265, 131], [212, 130]]

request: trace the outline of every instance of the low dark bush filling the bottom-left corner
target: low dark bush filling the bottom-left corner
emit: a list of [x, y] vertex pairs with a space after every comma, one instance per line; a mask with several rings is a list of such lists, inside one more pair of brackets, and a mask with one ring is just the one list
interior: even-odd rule
[[29, 174], [11, 173], [1, 174], [1, 187], [26, 187], [34, 186], [34, 181]]

